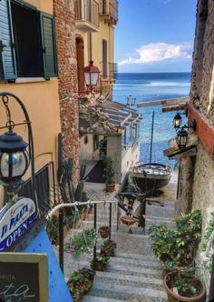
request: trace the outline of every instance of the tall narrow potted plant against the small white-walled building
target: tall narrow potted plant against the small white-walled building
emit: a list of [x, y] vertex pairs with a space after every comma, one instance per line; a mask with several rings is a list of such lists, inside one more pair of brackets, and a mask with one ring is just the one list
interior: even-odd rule
[[115, 181], [113, 177], [115, 170], [113, 167], [113, 161], [110, 156], [102, 156], [103, 161], [103, 178], [105, 179], [106, 192], [113, 192], [115, 188]]

